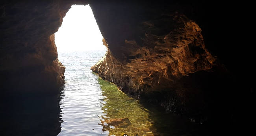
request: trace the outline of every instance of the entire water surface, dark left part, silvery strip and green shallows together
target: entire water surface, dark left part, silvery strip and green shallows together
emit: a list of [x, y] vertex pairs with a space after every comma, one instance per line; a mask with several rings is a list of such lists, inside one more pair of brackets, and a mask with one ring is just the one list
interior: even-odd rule
[[188, 120], [141, 103], [92, 73], [90, 67], [104, 54], [105, 51], [59, 53], [59, 60], [66, 67], [61, 94], [2, 100], [0, 135], [197, 135]]

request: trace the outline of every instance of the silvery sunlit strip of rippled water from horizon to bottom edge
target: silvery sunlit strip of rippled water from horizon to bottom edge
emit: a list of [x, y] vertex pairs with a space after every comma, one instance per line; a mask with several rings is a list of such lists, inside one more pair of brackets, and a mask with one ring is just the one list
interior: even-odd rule
[[[61, 135], [108, 135], [100, 134], [102, 126], [103, 96], [97, 76], [90, 67], [104, 56], [106, 51], [61, 53], [59, 60], [65, 65], [65, 86], [61, 94], [60, 108], [63, 123]], [[94, 130], [93, 130], [94, 129]]]

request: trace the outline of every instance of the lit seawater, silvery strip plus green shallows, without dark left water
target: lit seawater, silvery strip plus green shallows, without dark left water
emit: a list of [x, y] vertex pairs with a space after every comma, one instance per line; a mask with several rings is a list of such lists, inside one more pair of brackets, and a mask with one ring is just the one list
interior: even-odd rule
[[90, 68], [106, 51], [59, 53], [65, 65], [65, 86], [60, 109], [63, 122], [59, 136], [139, 136], [191, 134], [188, 120], [142, 104], [102, 80]]

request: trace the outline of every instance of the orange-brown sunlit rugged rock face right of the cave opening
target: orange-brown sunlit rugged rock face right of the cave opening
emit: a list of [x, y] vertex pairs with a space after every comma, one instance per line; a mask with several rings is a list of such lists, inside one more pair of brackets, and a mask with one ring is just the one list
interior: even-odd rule
[[[184, 16], [179, 17], [183, 19]], [[104, 58], [91, 69], [114, 83], [126, 80], [126, 85], [120, 87], [134, 91], [171, 87], [171, 84], [161, 82], [173, 82], [189, 73], [210, 70], [215, 58], [204, 46], [201, 29], [192, 20], [182, 23], [185, 28], [176, 28], [167, 35], [145, 34], [144, 44], [154, 47], [138, 45], [135, 40], [125, 40], [125, 47], [121, 49], [129, 51], [130, 56], [122, 54], [120, 61], [108, 49]]]

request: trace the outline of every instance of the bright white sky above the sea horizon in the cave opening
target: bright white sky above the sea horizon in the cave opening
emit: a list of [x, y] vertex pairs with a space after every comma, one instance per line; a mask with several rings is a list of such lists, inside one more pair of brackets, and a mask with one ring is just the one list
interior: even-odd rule
[[106, 50], [89, 5], [72, 5], [55, 33], [58, 52]]

